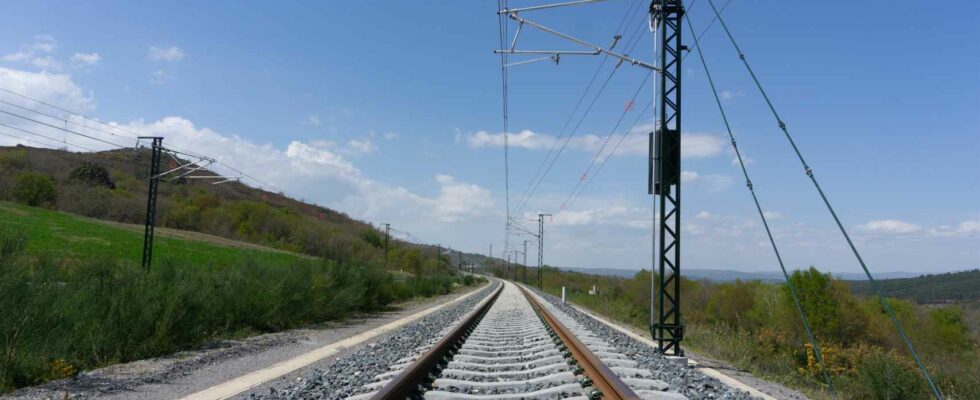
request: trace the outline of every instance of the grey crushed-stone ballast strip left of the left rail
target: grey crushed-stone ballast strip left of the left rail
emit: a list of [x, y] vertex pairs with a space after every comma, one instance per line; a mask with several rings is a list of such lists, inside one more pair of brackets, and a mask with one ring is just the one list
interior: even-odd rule
[[251, 393], [252, 399], [341, 399], [358, 393], [389, 365], [411, 355], [415, 349], [438, 336], [469, 313], [499, 283], [481, 289], [477, 294], [439, 310], [377, 340], [354, 353], [340, 358], [326, 369], [314, 369], [288, 385], [271, 387], [267, 392]]

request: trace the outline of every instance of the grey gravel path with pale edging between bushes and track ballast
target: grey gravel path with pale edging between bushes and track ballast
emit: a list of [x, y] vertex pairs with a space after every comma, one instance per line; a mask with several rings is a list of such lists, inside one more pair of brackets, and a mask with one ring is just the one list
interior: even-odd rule
[[[258, 335], [240, 341], [228, 340], [215, 343], [210, 348], [116, 364], [84, 372], [76, 378], [20, 389], [0, 396], [0, 399], [181, 398], [452, 301], [482, 287], [469, 287], [444, 296], [401, 303], [389, 312]], [[371, 342], [368, 340], [362, 345]], [[322, 367], [359, 347], [344, 349], [269, 383], [281, 382], [311, 368]]]

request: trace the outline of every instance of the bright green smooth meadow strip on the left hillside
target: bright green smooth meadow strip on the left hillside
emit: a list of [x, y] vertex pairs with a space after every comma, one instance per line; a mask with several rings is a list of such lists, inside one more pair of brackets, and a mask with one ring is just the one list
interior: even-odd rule
[[[25, 248], [29, 255], [43, 254], [69, 261], [106, 258], [137, 265], [142, 257], [142, 230], [10, 202], [0, 202], [0, 221], [31, 238]], [[204, 240], [172, 238], [160, 230], [154, 240], [153, 254], [154, 263], [166, 260], [198, 266], [240, 264], [243, 254], [262, 265], [289, 265], [305, 258], [271, 249], [263, 251]]]

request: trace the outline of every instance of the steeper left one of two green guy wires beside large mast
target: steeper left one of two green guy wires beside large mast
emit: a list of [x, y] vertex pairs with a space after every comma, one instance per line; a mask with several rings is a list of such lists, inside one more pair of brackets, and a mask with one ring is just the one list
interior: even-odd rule
[[[694, 36], [694, 25], [691, 23], [691, 17], [687, 14], [684, 15], [687, 20], [687, 27], [691, 31], [691, 35]], [[768, 218], [766, 218], [766, 213], [762, 211], [762, 205], [759, 201], [758, 195], [755, 192], [755, 186], [752, 184], [752, 179], [749, 177], [748, 167], [745, 165], [745, 160], [742, 157], [742, 152], [738, 148], [738, 143], [735, 141], [735, 134], [732, 132], [731, 124], [728, 122], [728, 115], [725, 113], [725, 107], [721, 104], [721, 97], [718, 95], [718, 89], [715, 87], [714, 78], [711, 76], [711, 71], [708, 68], [708, 63], [705, 61], [704, 52], [701, 50], [701, 41], [694, 36], [694, 46], [698, 53], [698, 58], [701, 59], [701, 66], [704, 67], [704, 75], [707, 77], [708, 85], [711, 87], [711, 94], [714, 96], [715, 104], [718, 105], [718, 112], [721, 115], [722, 121], [725, 123], [725, 130], [728, 132], [728, 138], [731, 140], [732, 150], [735, 151], [735, 157], [738, 160], [739, 168], [742, 170], [742, 175], [745, 177], [745, 187], [749, 189], [749, 193], [752, 195], [752, 201], [755, 203], [755, 209], [759, 213], [759, 219], [762, 220], [762, 226], [765, 227], [766, 236], [769, 238], [769, 244], [772, 246], [772, 251], [776, 255], [776, 261], [779, 263], [779, 269], [783, 272], [783, 278], [786, 280], [786, 286], [789, 288], [790, 297], [793, 298], [793, 305], [796, 307], [796, 312], [800, 316], [800, 320], [803, 323], [803, 328], [806, 331], [807, 339], [810, 345], [813, 346], [813, 353], [816, 356], [817, 363], [820, 365], [820, 371], [823, 375], [824, 381], [827, 382], [827, 387], [830, 390], [831, 398], [836, 399], [837, 393], [834, 388], [834, 383], [830, 379], [830, 374], [827, 372], [827, 366], [824, 363], [823, 352], [820, 349], [820, 343], [817, 342], [816, 336], [813, 334], [813, 329], [810, 326], [810, 319], [807, 317], [806, 311], [803, 310], [803, 306], [800, 303], [799, 295], [796, 293], [796, 285], [790, 280], [789, 272], [786, 271], [786, 264], [783, 262], [783, 257], [779, 253], [779, 246], [776, 245], [776, 239], [772, 235], [772, 230], [769, 227]]]

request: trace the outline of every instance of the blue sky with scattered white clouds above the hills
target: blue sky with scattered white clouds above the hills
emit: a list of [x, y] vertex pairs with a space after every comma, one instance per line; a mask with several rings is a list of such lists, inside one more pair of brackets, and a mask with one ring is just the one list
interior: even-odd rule
[[[632, 4], [523, 15], [606, 45]], [[980, 6], [846, 4], [733, 0], [725, 17], [872, 270], [980, 266]], [[706, 5], [690, 7], [699, 31], [711, 19]], [[163, 135], [165, 144], [214, 156], [294, 197], [390, 222], [416, 240], [474, 252], [492, 242], [499, 255], [506, 200], [500, 65], [491, 53], [496, 2], [8, 8], [0, 16], [0, 87]], [[643, 17], [628, 16], [623, 47]], [[639, 32], [633, 55], [651, 60], [650, 33]], [[719, 26], [702, 45], [788, 264], [857, 271]], [[518, 47], [576, 49], [530, 29]], [[510, 69], [512, 203], [600, 62], [565, 57]], [[775, 269], [701, 68], [696, 56], [684, 64], [685, 267]], [[546, 262], [648, 266], [649, 114], [558, 213], [644, 73], [616, 71], [523, 210], [557, 214]], [[652, 90], [640, 92], [616, 135]], [[0, 136], [0, 145], [15, 142]]]

